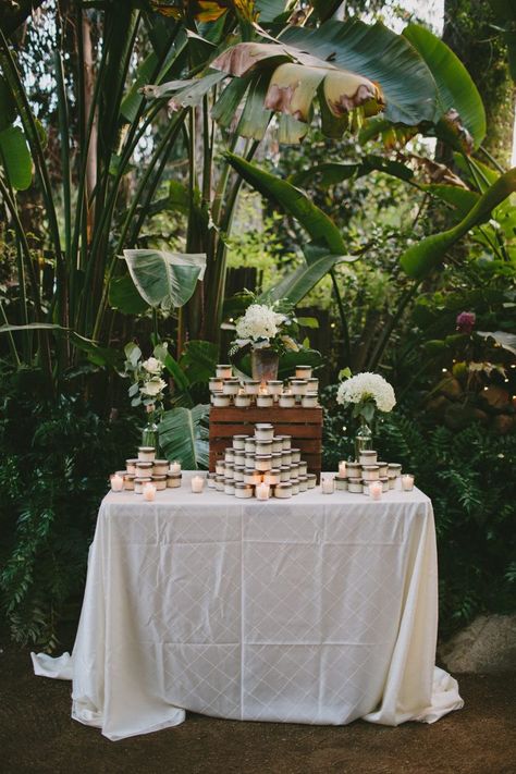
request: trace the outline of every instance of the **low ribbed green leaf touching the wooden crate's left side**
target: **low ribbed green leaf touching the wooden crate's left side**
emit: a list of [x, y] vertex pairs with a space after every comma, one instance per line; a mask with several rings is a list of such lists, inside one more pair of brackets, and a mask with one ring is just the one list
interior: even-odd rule
[[167, 459], [176, 459], [185, 470], [209, 465], [208, 417], [210, 407], [172, 408], [162, 415], [159, 442]]

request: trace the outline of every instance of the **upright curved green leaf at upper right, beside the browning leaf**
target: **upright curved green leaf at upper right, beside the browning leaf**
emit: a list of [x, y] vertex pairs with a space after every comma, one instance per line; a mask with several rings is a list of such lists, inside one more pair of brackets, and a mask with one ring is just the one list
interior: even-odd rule
[[435, 79], [438, 103], [432, 122], [437, 134], [464, 150], [478, 148], [486, 136], [486, 111], [468, 71], [452, 49], [427, 27], [409, 24], [403, 35]]

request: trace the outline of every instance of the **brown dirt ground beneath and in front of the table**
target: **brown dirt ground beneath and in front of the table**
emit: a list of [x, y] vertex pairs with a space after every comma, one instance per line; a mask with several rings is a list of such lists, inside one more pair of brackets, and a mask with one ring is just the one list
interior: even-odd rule
[[514, 774], [516, 675], [463, 675], [464, 710], [397, 728], [238, 723], [189, 714], [112, 742], [70, 717], [71, 684], [0, 647], [0, 772], [53, 774]]

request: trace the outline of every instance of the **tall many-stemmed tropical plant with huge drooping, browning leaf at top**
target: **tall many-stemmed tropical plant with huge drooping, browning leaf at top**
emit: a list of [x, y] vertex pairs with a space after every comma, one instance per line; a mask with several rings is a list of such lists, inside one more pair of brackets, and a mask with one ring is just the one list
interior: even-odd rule
[[[49, 133], [32, 110], [14, 48], [4, 34], [0, 37], [0, 97], [11, 123], [15, 110], [35, 165], [45, 208], [46, 274], [52, 277], [50, 284], [44, 282], [36, 268], [7, 161], [1, 197], [19, 255], [20, 304], [11, 305], [10, 320], [3, 309], [0, 330], [15, 361], [36, 357], [53, 383], [79, 365], [81, 353], [97, 365], [116, 360], [118, 351], [109, 346], [126, 325], [120, 316], [126, 310], [151, 314], [156, 331], [159, 309], [181, 308], [177, 355], [188, 337], [218, 341], [226, 235], [242, 184], [242, 176], [231, 174], [231, 157], [220, 159], [221, 147], [234, 151], [241, 137], [248, 138], [244, 157], [249, 161], [274, 113], [280, 140], [298, 140], [316, 99], [331, 136], [384, 103], [388, 122], [431, 124], [435, 115], [435, 84], [423, 59], [406, 38], [381, 25], [324, 21], [327, 12], [315, 4], [305, 27], [287, 24], [279, 32], [287, 22], [286, 2], [211, 3], [209, 11], [169, 5], [110, 0], [91, 15], [77, 1], [74, 29], [82, 33], [76, 40], [66, 19], [53, 19], [60, 192], [50, 177]], [[90, 83], [97, 36], [99, 63]], [[233, 45], [238, 36], [241, 42]], [[76, 78], [70, 48], [77, 50]], [[135, 72], [134, 54], [142, 48], [148, 53]], [[329, 48], [334, 49], [331, 62]], [[285, 100], [297, 82], [294, 100]], [[167, 106], [172, 115], [163, 121]], [[4, 128], [8, 149], [13, 147], [11, 123]], [[149, 132], [153, 139], [138, 172], [135, 162]], [[14, 134], [22, 148], [22, 135]], [[177, 180], [173, 195], [159, 204], [155, 195], [168, 162], [183, 151], [187, 179]], [[138, 244], [147, 219], [162, 206], [186, 212], [182, 255], [143, 250]]]

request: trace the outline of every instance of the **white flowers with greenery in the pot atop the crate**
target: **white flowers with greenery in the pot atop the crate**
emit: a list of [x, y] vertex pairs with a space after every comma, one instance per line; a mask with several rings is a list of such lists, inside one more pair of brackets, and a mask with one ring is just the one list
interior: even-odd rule
[[235, 331], [236, 337], [231, 345], [230, 355], [244, 347], [273, 349], [280, 355], [288, 349], [299, 351], [295, 341], [298, 333], [297, 320], [292, 305], [284, 302], [250, 304], [245, 315], [236, 320]]

